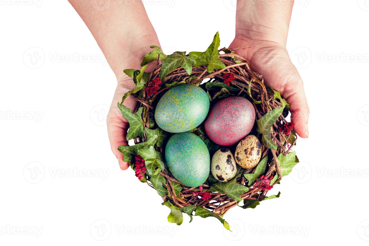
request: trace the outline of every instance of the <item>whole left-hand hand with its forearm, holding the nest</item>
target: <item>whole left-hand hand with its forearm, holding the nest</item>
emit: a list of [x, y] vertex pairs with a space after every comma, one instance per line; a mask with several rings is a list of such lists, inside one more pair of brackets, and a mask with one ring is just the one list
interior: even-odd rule
[[[127, 91], [134, 89], [135, 85], [123, 70], [141, 69], [142, 58], [152, 51], [149, 47], [159, 45], [158, 37], [141, 1], [120, 3], [111, 1], [108, 8], [102, 10], [96, 9], [90, 1], [69, 0], [69, 2], [86, 23], [117, 77], [118, 85], [108, 113], [107, 127], [111, 150], [117, 157], [120, 168], [125, 170], [128, 163], [123, 161], [118, 146], [128, 145], [126, 135], [129, 124], [123, 118], [117, 104], [122, 101]], [[149, 65], [146, 72], [150, 71]], [[129, 96], [124, 105], [135, 110], [137, 103]]]

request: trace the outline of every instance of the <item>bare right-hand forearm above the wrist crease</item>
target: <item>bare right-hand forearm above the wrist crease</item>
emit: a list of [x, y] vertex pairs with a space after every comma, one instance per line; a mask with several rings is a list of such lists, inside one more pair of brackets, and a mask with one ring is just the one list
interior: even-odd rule
[[286, 45], [293, 0], [238, 0], [236, 38]]

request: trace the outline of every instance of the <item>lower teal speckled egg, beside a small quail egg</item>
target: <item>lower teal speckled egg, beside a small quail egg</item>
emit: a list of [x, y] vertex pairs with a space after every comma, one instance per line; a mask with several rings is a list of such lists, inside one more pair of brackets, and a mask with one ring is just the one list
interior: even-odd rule
[[201, 138], [190, 132], [174, 134], [166, 144], [165, 160], [173, 176], [189, 187], [203, 184], [210, 172], [210, 155]]

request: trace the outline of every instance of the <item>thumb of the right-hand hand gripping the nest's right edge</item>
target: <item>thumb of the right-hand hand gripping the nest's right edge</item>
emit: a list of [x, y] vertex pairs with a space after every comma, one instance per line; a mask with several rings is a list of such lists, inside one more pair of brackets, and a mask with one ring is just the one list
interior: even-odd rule
[[286, 87], [283, 90], [283, 96], [290, 104], [293, 129], [301, 138], [307, 138], [309, 135], [307, 124], [310, 110], [307, 104], [302, 79], [296, 68], [294, 69], [294, 76], [291, 77], [298, 79], [295, 81], [290, 81], [285, 85]]

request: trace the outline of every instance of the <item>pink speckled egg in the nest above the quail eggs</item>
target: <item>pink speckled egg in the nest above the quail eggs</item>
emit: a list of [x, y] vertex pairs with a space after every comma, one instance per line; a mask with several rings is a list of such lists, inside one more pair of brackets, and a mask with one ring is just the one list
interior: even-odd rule
[[255, 108], [243, 97], [227, 97], [210, 109], [205, 131], [211, 141], [229, 146], [248, 135], [255, 123]]

